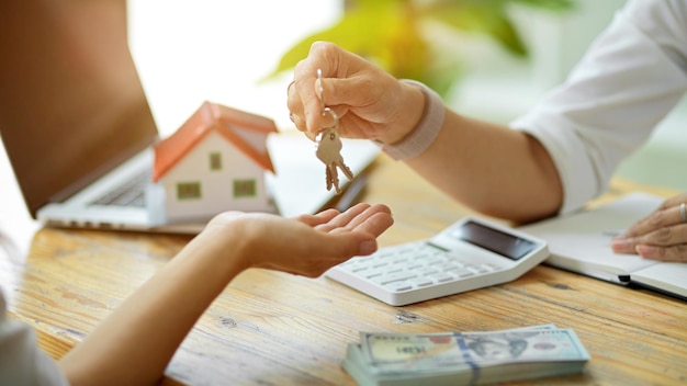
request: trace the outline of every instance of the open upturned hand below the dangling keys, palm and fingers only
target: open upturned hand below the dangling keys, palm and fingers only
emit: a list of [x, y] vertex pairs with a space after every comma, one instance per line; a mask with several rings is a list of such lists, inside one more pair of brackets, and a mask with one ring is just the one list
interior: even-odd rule
[[344, 213], [327, 209], [297, 218], [227, 212], [215, 217], [206, 235], [240, 232], [244, 268], [264, 268], [316, 277], [354, 256], [376, 250], [376, 237], [394, 223], [385, 205], [358, 204]]

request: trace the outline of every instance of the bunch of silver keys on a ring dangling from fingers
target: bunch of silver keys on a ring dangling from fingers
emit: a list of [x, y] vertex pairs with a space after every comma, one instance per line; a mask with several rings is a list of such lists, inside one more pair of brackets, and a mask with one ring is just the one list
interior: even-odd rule
[[[319, 84], [322, 84], [322, 70], [317, 70], [317, 78]], [[335, 188], [336, 193], [341, 193], [339, 188], [339, 173], [340, 169], [349, 180], [353, 179], [353, 172], [346, 163], [344, 163], [344, 157], [341, 157], [341, 138], [339, 137], [339, 117], [325, 104], [324, 90], [319, 88], [319, 102], [322, 104], [322, 115], [331, 115], [334, 124], [331, 126], [323, 127], [317, 136], [317, 150], [315, 155], [323, 161], [326, 170], [327, 190]]]

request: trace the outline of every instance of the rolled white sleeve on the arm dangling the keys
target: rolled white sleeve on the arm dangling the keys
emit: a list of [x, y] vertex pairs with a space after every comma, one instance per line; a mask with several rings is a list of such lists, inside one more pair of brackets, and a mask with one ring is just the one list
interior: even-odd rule
[[510, 124], [548, 149], [561, 213], [604, 193], [687, 90], [687, 1], [628, 1], [570, 78]]

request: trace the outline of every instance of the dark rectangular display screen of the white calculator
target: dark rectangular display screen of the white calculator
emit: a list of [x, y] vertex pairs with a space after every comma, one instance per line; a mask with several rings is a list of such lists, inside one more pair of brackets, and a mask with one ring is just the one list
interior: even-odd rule
[[537, 248], [537, 243], [485, 225], [466, 222], [450, 235], [510, 260], [519, 260]]

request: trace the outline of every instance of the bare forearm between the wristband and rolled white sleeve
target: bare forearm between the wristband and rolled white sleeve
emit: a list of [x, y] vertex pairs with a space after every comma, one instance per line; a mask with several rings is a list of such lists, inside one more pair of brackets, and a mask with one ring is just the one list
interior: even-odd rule
[[551, 216], [563, 200], [555, 166], [538, 140], [449, 110], [437, 139], [406, 163], [471, 208], [517, 223]]

